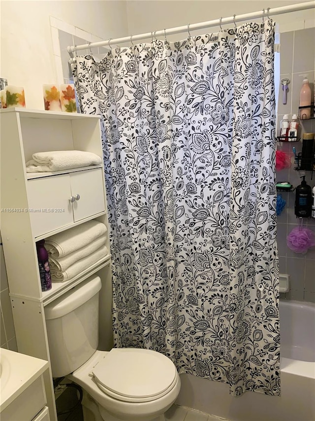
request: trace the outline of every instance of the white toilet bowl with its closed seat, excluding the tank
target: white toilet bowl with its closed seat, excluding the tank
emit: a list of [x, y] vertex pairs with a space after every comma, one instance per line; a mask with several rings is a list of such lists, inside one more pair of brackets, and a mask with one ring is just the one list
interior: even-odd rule
[[[166, 373], [165, 382], [161, 379], [157, 379], [156, 377], [150, 377], [150, 372], [143, 370], [138, 373], [138, 377], [131, 383], [127, 379], [127, 374], [125, 381], [121, 376], [123, 371], [120, 370], [120, 368], [124, 367], [116, 366], [111, 359], [109, 354], [113, 351], [117, 351], [117, 355], [115, 355], [117, 363], [120, 357], [122, 357], [122, 363], [124, 362], [124, 355], [126, 357], [126, 352], [130, 352], [132, 354], [132, 357], [129, 357], [130, 360], [133, 359], [135, 363], [136, 360], [139, 362], [139, 359], [137, 358], [138, 351], [140, 351], [139, 356], [142, 359], [146, 359], [147, 363], [149, 363], [151, 357], [153, 362], [156, 362], [157, 359], [154, 354], [148, 356], [146, 355], [146, 352], [155, 353], [159, 357], [164, 357], [166, 360], [171, 362], [164, 355], [145, 349], [114, 348], [110, 352], [95, 351], [95, 354], [85, 364], [75, 370], [72, 374], [68, 375], [67, 378], [74, 383], [79, 384], [89, 394], [89, 396], [95, 400], [102, 419], [107, 420], [107, 413], [109, 413], [112, 416], [117, 417], [119, 420], [149, 421], [157, 418], [159, 415], [167, 411], [167, 409], [175, 402], [181, 387], [180, 377], [175, 369], [175, 366], [174, 379], [171, 382], [170, 372], [172, 372], [172, 370], [167, 375], [166, 370], [164, 371], [162, 369], [162, 364], [160, 364], [158, 366], [160, 374], [162, 375], [162, 373]], [[106, 363], [107, 358], [108, 365], [104, 364], [101, 367], [100, 364], [103, 362]], [[145, 365], [146, 364], [144, 364], [144, 366]], [[166, 364], [166, 367], [167, 366], [168, 364]], [[156, 367], [156, 369], [158, 369], [158, 367]], [[110, 369], [109, 371], [112, 372], [115, 372], [117, 369], [117, 376], [115, 378], [106, 376], [106, 374], [111, 374], [106, 373], [108, 368]], [[133, 366], [133, 369], [129, 374], [133, 375], [134, 369], [135, 367]], [[114, 381], [108, 382], [110, 383], [109, 386], [114, 387], [106, 387], [101, 384], [99, 378], [96, 379], [95, 376], [92, 376], [93, 371], [97, 373], [100, 379], [102, 379], [103, 374], [104, 379], [111, 379]], [[145, 383], [143, 383], [143, 379], [145, 379]], [[106, 380], [104, 383], [107, 383]]]

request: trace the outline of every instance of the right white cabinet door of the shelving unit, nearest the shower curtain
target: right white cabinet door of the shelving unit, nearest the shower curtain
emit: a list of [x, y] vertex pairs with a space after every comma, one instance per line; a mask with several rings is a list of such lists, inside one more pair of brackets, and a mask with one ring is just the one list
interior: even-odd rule
[[105, 210], [103, 170], [78, 171], [70, 173], [71, 194], [80, 198], [73, 202], [74, 222]]

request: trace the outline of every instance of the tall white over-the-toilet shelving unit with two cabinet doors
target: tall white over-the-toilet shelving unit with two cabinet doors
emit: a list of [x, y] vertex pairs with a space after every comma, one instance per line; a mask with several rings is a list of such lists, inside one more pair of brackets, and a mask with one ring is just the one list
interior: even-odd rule
[[[97, 116], [11, 108], [0, 111], [1, 236], [8, 276], [18, 351], [50, 361], [45, 306], [92, 274], [102, 280], [100, 344], [111, 325], [111, 255], [108, 254], [66, 282], [41, 291], [36, 241], [95, 219], [108, 226], [103, 164], [53, 173], [27, 173], [32, 153], [79, 150], [102, 157]], [[71, 195], [80, 199], [71, 203]], [[62, 211], [30, 211], [63, 209]], [[106, 239], [110, 250], [109, 239]], [[107, 309], [107, 310], [106, 310]], [[44, 375], [51, 421], [57, 421], [51, 369]]]

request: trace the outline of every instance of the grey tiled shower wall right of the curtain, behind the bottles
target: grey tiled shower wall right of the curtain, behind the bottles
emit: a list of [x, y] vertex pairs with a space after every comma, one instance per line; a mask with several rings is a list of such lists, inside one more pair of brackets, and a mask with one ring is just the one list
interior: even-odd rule
[[[278, 102], [278, 135], [280, 121], [284, 114], [298, 114], [300, 90], [305, 77], [310, 81], [312, 94], [314, 93], [315, 77], [315, 28], [291, 31], [281, 34], [280, 38], [280, 73], [281, 79], [288, 78], [287, 103], [283, 105], [283, 91], [279, 91]], [[312, 96], [313, 98], [313, 96]], [[299, 137], [302, 138], [304, 132], [315, 132], [315, 119], [303, 121], [300, 127]], [[293, 146], [296, 152], [302, 150], [302, 141], [278, 143], [278, 150], [292, 153]], [[313, 180], [309, 171], [294, 170], [294, 158], [289, 169], [277, 171], [277, 182], [289, 181], [293, 187], [301, 183], [301, 176], [306, 175], [308, 184], [315, 186], [315, 172]], [[281, 294], [281, 298], [308, 301], [315, 303], [315, 248], [309, 250], [305, 255], [291, 251], [286, 245], [286, 237], [298, 227], [299, 220], [294, 215], [295, 191], [292, 193], [281, 193], [286, 201], [286, 206], [282, 214], [278, 217], [278, 250], [280, 273], [290, 275], [290, 291]], [[315, 219], [304, 219], [303, 226], [315, 232]]]

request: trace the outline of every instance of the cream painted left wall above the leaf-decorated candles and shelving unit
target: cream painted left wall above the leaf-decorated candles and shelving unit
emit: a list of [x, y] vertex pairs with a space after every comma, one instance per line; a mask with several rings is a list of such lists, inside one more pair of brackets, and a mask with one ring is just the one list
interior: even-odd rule
[[[122, 37], [127, 32], [126, 0], [0, 1], [0, 77], [24, 86], [26, 106], [43, 110], [42, 85], [56, 83], [50, 18], [93, 34], [91, 41]], [[60, 28], [62, 29], [62, 28]]]

